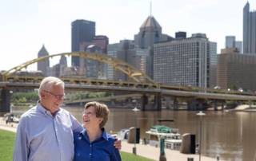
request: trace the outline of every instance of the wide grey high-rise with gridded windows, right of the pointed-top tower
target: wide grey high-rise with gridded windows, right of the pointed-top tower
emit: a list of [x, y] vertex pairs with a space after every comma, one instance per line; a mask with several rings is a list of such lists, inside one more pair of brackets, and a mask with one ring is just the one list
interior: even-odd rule
[[214, 60], [210, 59], [215, 57], [216, 49], [217, 44], [210, 42], [203, 33], [155, 44], [154, 81], [210, 87], [211, 63], [214, 65]]

